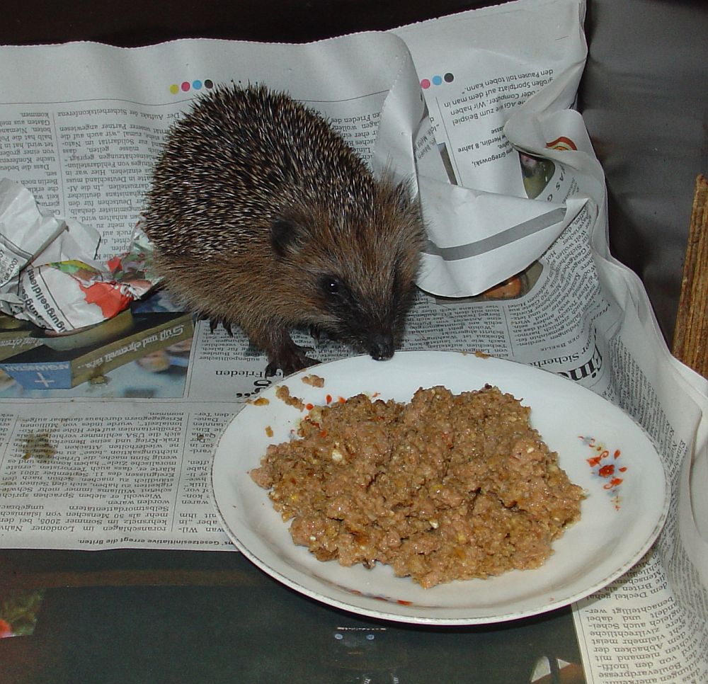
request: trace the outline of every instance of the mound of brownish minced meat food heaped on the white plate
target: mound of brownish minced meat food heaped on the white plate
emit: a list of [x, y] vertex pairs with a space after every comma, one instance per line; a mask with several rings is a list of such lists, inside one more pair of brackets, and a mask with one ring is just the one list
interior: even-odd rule
[[490, 385], [418, 389], [409, 404], [359, 394], [315, 406], [251, 477], [321, 561], [378, 561], [425, 588], [537, 568], [583, 491], [529, 415]]

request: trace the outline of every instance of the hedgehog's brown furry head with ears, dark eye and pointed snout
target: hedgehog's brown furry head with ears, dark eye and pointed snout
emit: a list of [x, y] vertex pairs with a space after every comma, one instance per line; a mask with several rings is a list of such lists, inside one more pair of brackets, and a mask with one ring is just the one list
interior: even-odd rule
[[409, 309], [424, 232], [406, 186], [382, 181], [372, 191], [370, 208], [353, 214], [292, 207], [273, 221], [271, 245], [298, 323], [387, 359]]

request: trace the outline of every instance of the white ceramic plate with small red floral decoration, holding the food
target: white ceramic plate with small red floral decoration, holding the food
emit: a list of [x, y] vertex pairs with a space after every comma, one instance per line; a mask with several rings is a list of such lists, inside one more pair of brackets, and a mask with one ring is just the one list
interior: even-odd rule
[[[302, 382], [323, 377], [324, 387]], [[418, 387], [452, 392], [486, 382], [531, 406], [531, 423], [571, 481], [587, 491], [581, 520], [554, 543], [539, 569], [423, 589], [396, 578], [387, 566], [346, 568], [320, 562], [293, 544], [287, 524], [265, 489], [249, 477], [269, 443], [292, 436], [304, 412], [260, 394], [266, 405], [246, 406], [227, 426], [215, 450], [212, 495], [224, 530], [265, 572], [305, 595], [360, 615], [428, 625], [501, 622], [559, 608], [593, 593], [641, 559], [661, 530], [668, 485], [661, 459], [644, 431], [623, 411], [590, 390], [549, 372], [496, 358], [452, 352], [397, 352], [381, 362], [348, 358], [296, 373], [278, 384], [306, 403], [326, 395], [378, 392], [409, 401]], [[266, 428], [273, 436], [266, 435]], [[611, 472], [612, 471], [612, 472]], [[621, 479], [621, 482], [617, 482]]]

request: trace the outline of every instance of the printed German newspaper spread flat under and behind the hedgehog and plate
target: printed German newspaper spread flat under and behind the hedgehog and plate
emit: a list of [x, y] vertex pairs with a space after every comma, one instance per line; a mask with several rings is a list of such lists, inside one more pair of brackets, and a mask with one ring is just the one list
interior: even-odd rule
[[[603, 170], [572, 108], [584, 14], [581, 0], [520, 0], [309, 45], [2, 47], [0, 178], [95, 229], [108, 261], [195, 95], [262, 81], [320, 110], [374, 169], [416, 180], [430, 242], [403, 348], [564, 375], [625, 409], [665, 460], [658, 542], [573, 607], [587, 680], [705, 682], [708, 383], [670, 356], [641, 282], [610, 255]], [[0, 545], [232, 548], [208, 496], [212, 449], [272, 380], [238, 331], [172, 308], [149, 297], [131, 312], [144, 323], [83, 355], [2, 331]]]

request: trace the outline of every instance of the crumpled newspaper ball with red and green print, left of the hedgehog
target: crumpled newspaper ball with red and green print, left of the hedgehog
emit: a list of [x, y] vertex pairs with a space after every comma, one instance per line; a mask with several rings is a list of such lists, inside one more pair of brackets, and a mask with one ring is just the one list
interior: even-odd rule
[[96, 229], [38, 207], [20, 183], [0, 179], [0, 312], [47, 331], [71, 332], [114, 317], [159, 278], [139, 228], [130, 249], [98, 261]]

